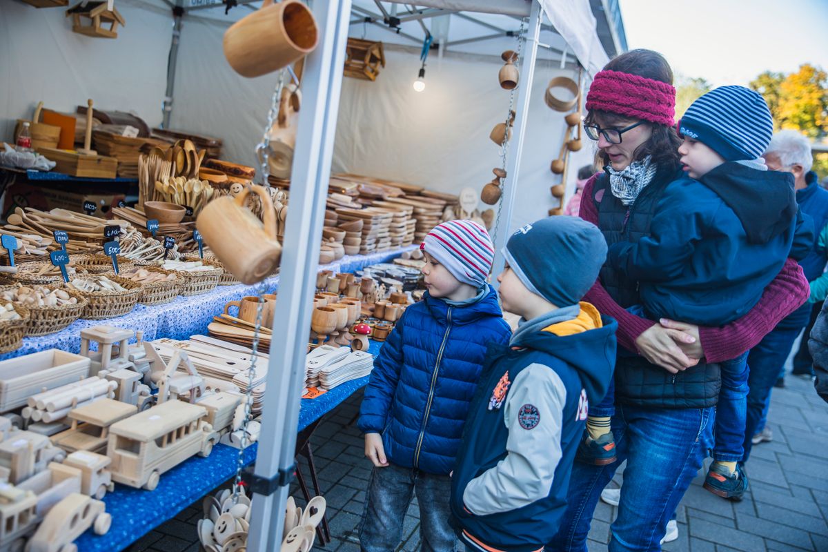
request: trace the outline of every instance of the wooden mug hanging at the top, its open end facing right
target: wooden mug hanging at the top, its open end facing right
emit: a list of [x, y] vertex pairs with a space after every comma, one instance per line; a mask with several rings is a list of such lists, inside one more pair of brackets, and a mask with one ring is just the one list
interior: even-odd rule
[[224, 32], [224, 57], [243, 77], [258, 77], [290, 65], [319, 42], [313, 13], [299, 0], [273, 3], [245, 16]]

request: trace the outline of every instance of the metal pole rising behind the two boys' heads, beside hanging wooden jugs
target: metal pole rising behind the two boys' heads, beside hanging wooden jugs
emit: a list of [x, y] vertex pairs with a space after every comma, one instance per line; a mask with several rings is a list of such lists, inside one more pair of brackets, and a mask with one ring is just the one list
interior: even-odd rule
[[[523, 48], [525, 52], [520, 64], [521, 82], [517, 89], [517, 118], [515, 118], [512, 129], [512, 141], [509, 145], [509, 158], [506, 168], [506, 182], [503, 185], [503, 205], [501, 207], [501, 220], [505, 228], [498, 228], [494, 240], [494, 264], [492, 274], [498, 275], [503, 271], [503, 253], [500, 250], [506, 245], [509, 236], [509, 224], [512, 222], [512, 207], [515, 195], [517, 194], [518, 170], [520, 169], [520, 158], [523, 151], [523, 137], [526, 134], [526, 124], [529, 118], [529, 98], [532, 96], [532, 79], [535, 75], [535, 60], [537, 59], [537, 40], [541, 36], [541, 22], [543, 10], [541, 2], [532, 0], [531, 12], [529, 12], [529, 26], [527, 27], [527, 43]], [[498, 282], [493, 281], [497, 287]]]

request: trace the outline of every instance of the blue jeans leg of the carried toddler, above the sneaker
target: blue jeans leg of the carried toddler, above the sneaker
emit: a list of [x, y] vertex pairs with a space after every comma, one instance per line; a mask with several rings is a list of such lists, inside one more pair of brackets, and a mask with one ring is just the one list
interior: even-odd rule
[[722, 387], [716, 405], [713, 459], [739, 462], [744, 456], [748, 410], [748, 352], [720, 363]]

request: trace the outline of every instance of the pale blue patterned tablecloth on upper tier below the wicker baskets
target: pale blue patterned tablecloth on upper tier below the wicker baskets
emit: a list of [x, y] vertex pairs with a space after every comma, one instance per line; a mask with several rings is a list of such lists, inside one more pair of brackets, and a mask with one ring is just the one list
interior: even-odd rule
[[[320, 271], [354, 272], [364, 266], [378, 262], [388, 262], [399, 257], [401, 252], [409, 251], [412, 248], [412, 246], [403, 247], [402, 249], [371, 255], [346, 255], [330, 265], [320, 265]], [[279, 276], [267, 279], [263, 285], [267, 289], [267, 293], [272, 293], [278, 289]], [[166, 303], [166, 305], [152, 307], [137, 305], [132, 312], [118, 316], [118, 318], [106, 320], [80, 319], [55, 334], [44, 335], [39, 338], [23, 338], [21, 348], [12, 351], [12, 353], [0, 355], [0, 360], [37, 353], [50, 348], [58, 348], [69, 353], [79, 353], [80, 330], [102, 324], [117, 328], [142, 330], [144, 341], [160, 338], [189, 339], [191, 335], [206, 334], [207, 325], [213, 321], [213, 317], [219, 314], [229, 301], [241, 299], [244, 295], [256, 295], [260, 286], [262, 284], [256, 286], [244, 286], [243, 284], [219, 286], [201, 295], [179, 296], [171, 303]], [[132, 339], [132, 341], [135, 340]]]

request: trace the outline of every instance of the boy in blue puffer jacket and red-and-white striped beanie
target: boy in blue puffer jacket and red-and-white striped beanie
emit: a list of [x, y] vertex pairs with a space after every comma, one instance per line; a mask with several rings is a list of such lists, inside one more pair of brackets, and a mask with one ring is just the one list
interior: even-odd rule
[[449, 473], [489, 343], [511, 334], [495, 291], [489, 233], [478, 223], [442, 223], [426, 236], [426, 295], [397, 322], [373, 363], [359, 413], [374, 465], [362, 550], [390, 552], [416, 491], [422, 550], [454, 552]]

